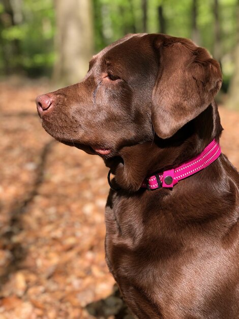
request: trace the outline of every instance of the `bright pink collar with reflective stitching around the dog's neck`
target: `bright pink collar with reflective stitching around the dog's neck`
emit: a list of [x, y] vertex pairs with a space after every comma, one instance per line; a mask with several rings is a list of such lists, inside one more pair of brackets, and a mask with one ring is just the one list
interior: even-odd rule
[[147, 177], [141, 187], [154, 191], [159, 188], [172, 188], [179, 180], [189, 177], [212, 164], [221, 154], [220, 145], [213, 140], [196, 157], [181, 166]]

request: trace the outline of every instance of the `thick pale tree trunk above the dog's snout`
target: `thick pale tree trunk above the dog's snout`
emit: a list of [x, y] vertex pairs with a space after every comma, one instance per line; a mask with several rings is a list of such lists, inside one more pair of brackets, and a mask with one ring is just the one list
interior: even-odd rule
[[55, 0], [56, 51], [53, 80], [61, 85], [80, 82], [93, 54], [93, 13], [90, 0]]

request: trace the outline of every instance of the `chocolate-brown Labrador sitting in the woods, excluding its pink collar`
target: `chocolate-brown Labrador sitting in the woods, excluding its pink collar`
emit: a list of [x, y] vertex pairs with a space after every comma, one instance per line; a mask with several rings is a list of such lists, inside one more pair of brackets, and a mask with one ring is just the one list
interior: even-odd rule
[[37, 98], [50, 135], [115, 175], [106, 260], [137, 318], [239, 318], [239, 177], [226, 156], [173, 188], [141, 188], [219, 141], [221, 82], [190, 40], [139, 34], [96, 55], [81, 83]]

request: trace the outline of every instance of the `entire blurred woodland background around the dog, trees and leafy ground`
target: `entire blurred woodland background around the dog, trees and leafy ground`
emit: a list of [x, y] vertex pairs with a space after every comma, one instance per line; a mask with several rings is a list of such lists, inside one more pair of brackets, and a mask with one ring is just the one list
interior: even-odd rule
[[0, 319], [131, 318], [104, 260], [108, 171], [48, 136], [34, 100], [142, 32], [220, 62], [221, 146], [239, 167], [239, 0], [0, 0]]

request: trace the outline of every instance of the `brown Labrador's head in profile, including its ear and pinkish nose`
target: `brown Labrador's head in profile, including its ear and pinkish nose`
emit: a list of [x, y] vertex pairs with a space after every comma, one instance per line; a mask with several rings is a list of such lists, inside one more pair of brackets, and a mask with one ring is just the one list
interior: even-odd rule
[[93, 57], [82, 82], [39, 96], [37, 106], [55, 139], [113, 157], [174, 136], [212, 103], [221, 82], [218, 62], [192, 41], [128, 35]]

